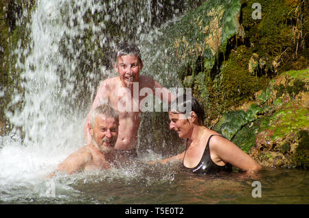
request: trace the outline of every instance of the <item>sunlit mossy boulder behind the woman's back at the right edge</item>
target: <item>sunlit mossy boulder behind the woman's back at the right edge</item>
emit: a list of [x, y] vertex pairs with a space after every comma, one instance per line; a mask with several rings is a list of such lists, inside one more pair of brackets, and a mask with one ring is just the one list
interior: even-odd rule
[[282, 73], [247, 109], [223, 114], [214, 130], [263, 166], [308, 168], [308, 90], [309, 69]]

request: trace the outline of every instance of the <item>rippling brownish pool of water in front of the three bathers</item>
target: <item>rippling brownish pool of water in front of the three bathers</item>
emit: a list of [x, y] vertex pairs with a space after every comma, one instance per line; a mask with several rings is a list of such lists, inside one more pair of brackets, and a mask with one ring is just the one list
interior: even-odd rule
[[[142, 158], [121, 169], [27, 180], [8, 178], [1, 204], [308, 204], [309, 172], [263, 169], [244, 173], [192, 175], [174, 165]], [[16, 176], [15, 176], [16, 177]], [[2, 178], [3, 179], [3, 178]], [[254, 181], [260, 182], [260, 196]], [[2, 181], [3, 182], [3, 181]], [[255, 193], [255, 197], [253, 196]]]

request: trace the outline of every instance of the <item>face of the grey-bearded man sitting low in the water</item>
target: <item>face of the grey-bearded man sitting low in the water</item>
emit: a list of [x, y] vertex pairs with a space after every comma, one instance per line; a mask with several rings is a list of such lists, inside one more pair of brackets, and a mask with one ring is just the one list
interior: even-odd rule
[[118, 123], [113, 118], [107, 118], [99, 115], [95, 119], [94, 128], [90, 128], [90, 134], [93, 143], [98, 146], [102, 152], [113, 149], [118, 136]]

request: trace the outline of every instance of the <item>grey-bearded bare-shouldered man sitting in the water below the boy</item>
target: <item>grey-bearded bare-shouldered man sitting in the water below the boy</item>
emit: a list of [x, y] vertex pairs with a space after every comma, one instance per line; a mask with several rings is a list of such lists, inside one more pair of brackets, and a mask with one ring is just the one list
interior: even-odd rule
[[[115, 162], [114, 146], [118, 126], [118, 114], [111, 106], [104, 104], [95, 108], [88, 123], [91, 142], [66, 158], [56, 171], [71, 174], [84, 170], [109, 169]], [[49, 178], [54, 175], [52, 173]]]

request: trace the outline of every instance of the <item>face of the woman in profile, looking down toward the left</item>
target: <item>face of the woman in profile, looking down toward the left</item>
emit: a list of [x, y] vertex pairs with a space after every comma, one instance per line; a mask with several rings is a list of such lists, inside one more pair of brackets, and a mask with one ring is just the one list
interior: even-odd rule
[[179, 138], [190, 138], [192, 123], [185, 117], [185, 114], [174, 114], [169, 110], [168, 117], [170, 118], [170, 130], [176, 131]]

